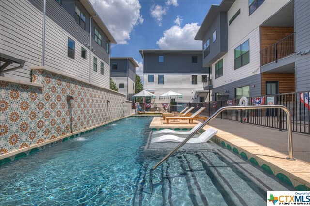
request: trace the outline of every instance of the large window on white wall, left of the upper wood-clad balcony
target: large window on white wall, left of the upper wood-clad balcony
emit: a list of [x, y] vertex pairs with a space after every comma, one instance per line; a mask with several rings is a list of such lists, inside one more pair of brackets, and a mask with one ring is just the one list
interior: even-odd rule
[[238, 69], [250, 62], [249, 39], [234, 50], [234, 69]]

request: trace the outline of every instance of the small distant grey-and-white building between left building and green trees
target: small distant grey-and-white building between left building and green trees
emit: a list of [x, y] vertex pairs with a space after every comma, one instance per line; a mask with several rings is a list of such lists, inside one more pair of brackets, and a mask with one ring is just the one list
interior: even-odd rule
[[132, 57], [111, 57], [111, 78], [127, 100], [135, 94], [136, 67], [139, 65]]

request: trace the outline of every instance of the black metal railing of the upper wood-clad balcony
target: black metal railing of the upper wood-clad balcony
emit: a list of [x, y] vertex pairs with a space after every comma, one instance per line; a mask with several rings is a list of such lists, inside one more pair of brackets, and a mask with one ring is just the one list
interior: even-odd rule
[[294, 33], [260, 51], [261, 66], [288, 57], [295, 52]]

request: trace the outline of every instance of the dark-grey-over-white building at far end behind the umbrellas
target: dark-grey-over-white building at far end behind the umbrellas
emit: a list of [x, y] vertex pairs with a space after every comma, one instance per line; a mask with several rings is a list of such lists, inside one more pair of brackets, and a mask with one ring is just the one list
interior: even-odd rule
[[177, 103], [198, 103], [209, 99], [209, 71], [202, 67], [202, 50], [140, 50], [143, 58], [144, 89], [157, 95], [152, 103], [169, 103], [159, 100], [169, 90], [183, 95]]

